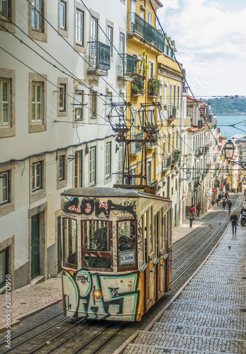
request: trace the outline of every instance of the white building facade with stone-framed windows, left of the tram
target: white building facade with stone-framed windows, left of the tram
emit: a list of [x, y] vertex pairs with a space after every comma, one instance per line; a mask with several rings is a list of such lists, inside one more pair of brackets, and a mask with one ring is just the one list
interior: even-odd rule
[[[1, 1], [4, 4], [4, 1]], [[123, 0], [9, 0], [0, 16], [0, 292], [60, 271], [60, 193], [112, 187]]]

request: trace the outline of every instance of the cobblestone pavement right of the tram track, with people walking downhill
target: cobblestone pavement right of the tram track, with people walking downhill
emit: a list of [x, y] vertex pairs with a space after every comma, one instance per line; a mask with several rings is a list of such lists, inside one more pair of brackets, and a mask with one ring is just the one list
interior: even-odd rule
[[115, 354], [245, 354], [245, 253], [246, 229], [232, 236], [229, 225], [179, 296]]

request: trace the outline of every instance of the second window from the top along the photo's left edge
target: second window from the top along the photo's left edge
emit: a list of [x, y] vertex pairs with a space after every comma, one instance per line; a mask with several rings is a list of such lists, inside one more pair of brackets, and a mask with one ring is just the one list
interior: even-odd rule
[[9, 125], [10, 81], [0, 79], [0, 125]]

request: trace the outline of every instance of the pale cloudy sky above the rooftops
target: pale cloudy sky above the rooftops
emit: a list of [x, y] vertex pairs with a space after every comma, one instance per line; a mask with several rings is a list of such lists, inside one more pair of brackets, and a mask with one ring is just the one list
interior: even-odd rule
[[194, 96], [246, 96], [246, 1], [162, 0], [158, 11]]

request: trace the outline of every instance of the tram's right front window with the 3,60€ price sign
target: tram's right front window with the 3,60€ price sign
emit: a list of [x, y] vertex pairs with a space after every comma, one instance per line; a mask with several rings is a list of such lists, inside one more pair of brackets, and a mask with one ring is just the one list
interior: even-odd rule
[[118, 222], [119, 268], [136, 266], [136, 236], [135, 220]]

